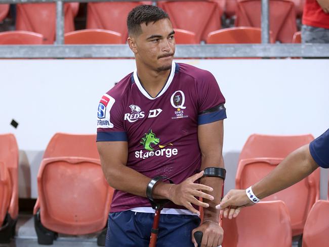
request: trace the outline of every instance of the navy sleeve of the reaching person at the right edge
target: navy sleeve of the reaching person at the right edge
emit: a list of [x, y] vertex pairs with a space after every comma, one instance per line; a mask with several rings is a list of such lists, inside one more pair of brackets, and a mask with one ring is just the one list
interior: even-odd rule
[[310, 143], [314, 161], [323, 168], [329, 168], [329, 129]]

